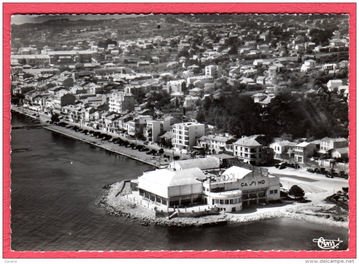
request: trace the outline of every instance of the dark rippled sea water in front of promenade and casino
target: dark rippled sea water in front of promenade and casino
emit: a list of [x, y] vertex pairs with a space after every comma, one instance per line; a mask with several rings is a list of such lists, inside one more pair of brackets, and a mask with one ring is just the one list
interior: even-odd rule
[[[12, 124], [24, 117], [13, 114]], [[102, 186], [150, 169], [45, 129], [11, 132], [11, 249], [56, 250], [318, 250], [313, 238], [348, 230], [294, 219], [206, 228], [141, 226], [94, 205]]]

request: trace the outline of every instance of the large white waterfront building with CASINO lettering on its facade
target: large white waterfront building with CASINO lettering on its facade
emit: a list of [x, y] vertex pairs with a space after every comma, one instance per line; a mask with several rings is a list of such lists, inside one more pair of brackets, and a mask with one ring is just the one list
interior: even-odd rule
[[250, 204], [279, 199], [279, 177], [268, 175], [260, 167], [251, 167], [253, 170], [232, 166], [220, 175], [198, 167], [145, 171], [138, 177], [137, 188], [142, 198], [167, 207], [207, 204], [210, 209], [217, 207], [225, 212], [238, 212]]

